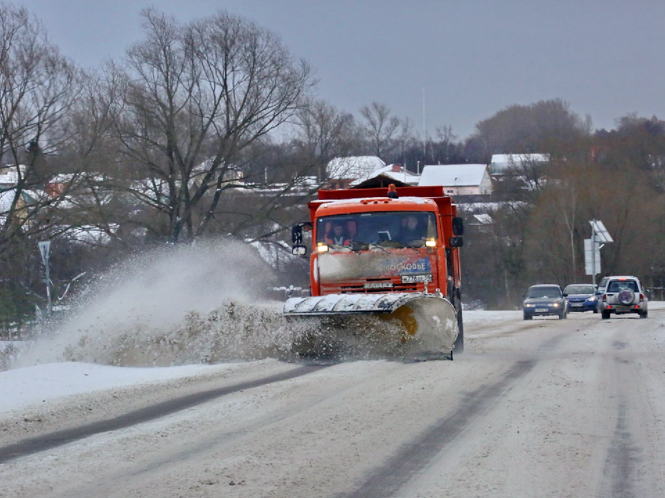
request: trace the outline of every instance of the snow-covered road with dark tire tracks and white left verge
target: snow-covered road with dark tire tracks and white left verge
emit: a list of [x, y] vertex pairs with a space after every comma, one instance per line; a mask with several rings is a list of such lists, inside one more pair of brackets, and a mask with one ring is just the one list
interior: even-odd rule
[[[648, 320], [467, 312], [453, 362], [0, 372], [0, 496], [662, 497], [659, 304]], [[7, 454], [81, 427], [101, 432]]]

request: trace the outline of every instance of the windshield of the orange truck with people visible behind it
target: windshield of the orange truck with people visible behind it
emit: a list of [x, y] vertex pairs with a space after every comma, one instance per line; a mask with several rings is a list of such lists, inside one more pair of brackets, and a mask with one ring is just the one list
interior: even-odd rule
[[436, 241], [433, 212], [366, 212], [323, 216], [317, 221], [317, 245], [418, 248]]

